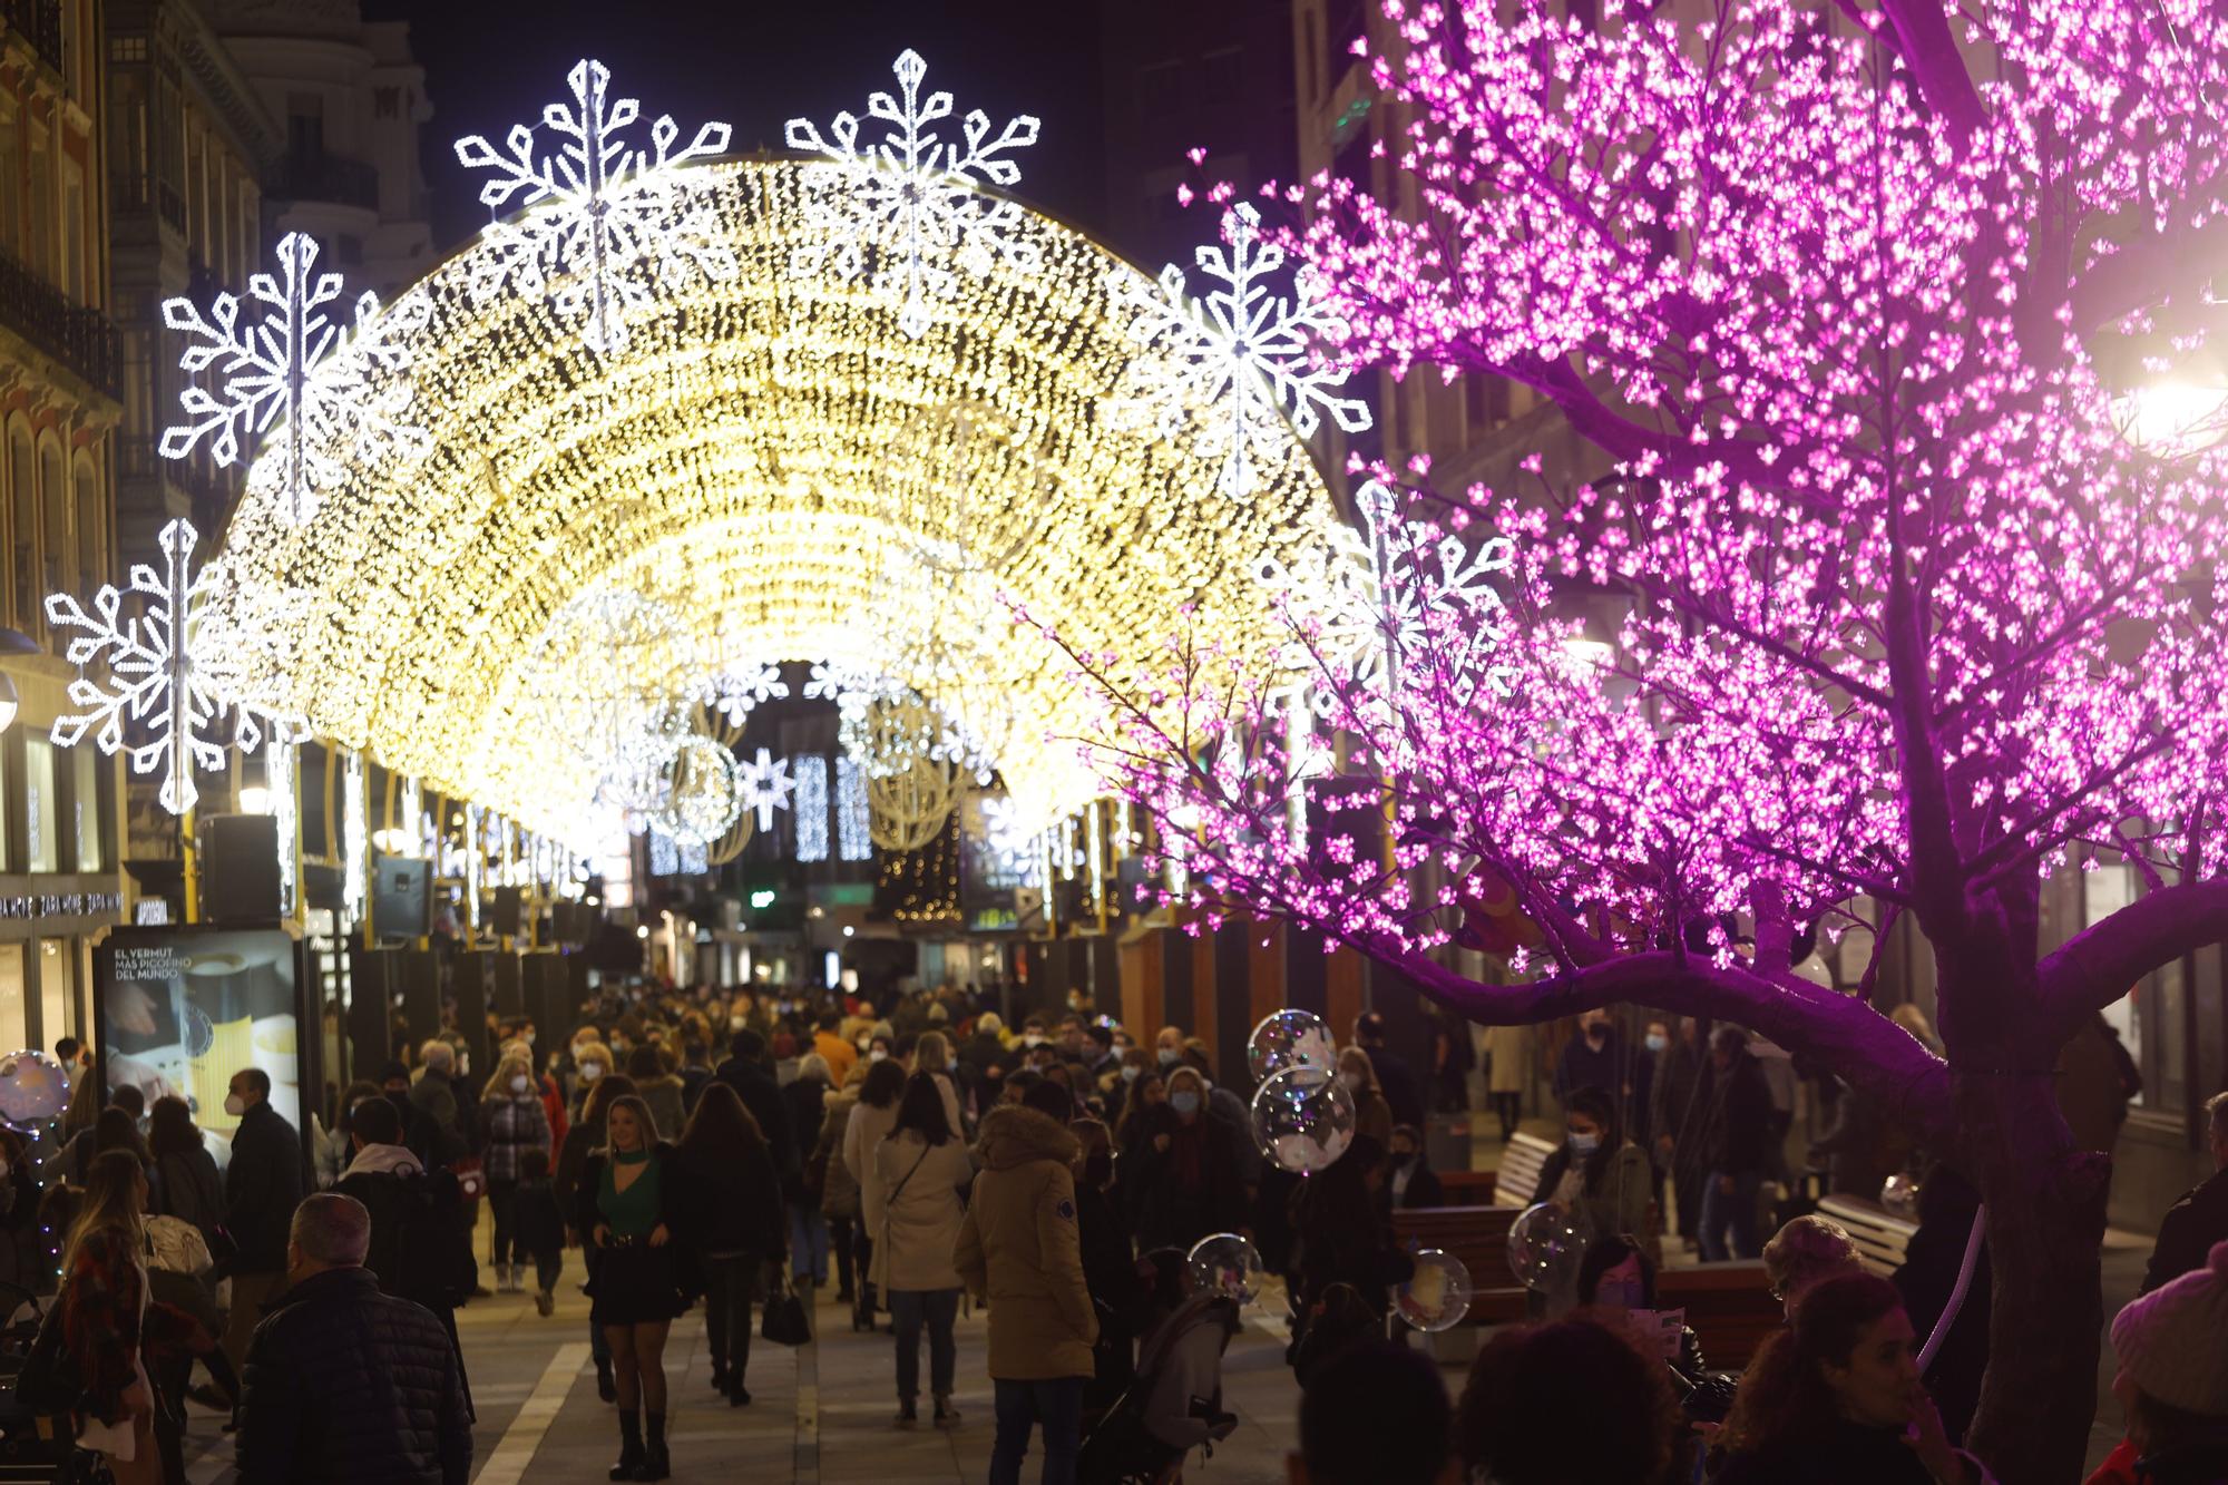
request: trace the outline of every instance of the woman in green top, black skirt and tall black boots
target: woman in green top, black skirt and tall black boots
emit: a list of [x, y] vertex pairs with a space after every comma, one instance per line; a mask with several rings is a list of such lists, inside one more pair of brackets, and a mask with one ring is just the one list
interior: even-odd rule
[[[610, 1101], [608, 1144], [588, 1157], [577, 1226], [597, 1251], [588, 1298], [604, 1327], [619, 1391], [615, 1481], [662, 1481], [666, 1460], [666, 1329], [688, 1309], [673, 1242], [677, 1175], [673, 1146], [657, 1139], [651, 1108], [635, 1095]], [[644, 1429], [646, 1425], [646, 1429]]]

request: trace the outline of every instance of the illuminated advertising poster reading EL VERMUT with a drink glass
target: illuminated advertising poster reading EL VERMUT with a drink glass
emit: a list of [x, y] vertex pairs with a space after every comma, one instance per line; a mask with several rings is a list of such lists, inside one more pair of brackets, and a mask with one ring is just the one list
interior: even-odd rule
[[241, 1068], [272, 1079], [272, 1108], [301, 1122], [303, 1021], [296, 945], [276, 928], [120, 928], [94, 948], [107, 1086], [178, 1095], [218, 1162], [238, 1124], [225, 1093]]

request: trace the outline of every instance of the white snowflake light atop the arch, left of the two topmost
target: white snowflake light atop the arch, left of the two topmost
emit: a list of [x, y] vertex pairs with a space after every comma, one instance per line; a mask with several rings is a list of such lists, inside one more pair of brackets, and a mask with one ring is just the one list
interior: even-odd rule
[[488, 252], [472, 254], [466, 290], [475, 305], [506, 292], [548, 294], [561, 319], [579, 321], [590, 350], [610, 355], [626, 343], [626, 314], [655, 305], [662, 288], [735, 276], [717, 212], [677, 172], [724, 154], [731, 129], [709, 123], [675, 149], [680, 125], [664, 114], [644, 149], [628, 140], [642, 103], [610, 96], [604, 62], [575, 62], [566, 85], [573, 107], [541, 109], [541, 127], [564, 140], [555, 156], [537, 149], [528, 125], [512, 125], [504, 149], [481, 134], [457, 140], [466, 167], [495, 172], [479, 201], [519, 212], [488, 225]]

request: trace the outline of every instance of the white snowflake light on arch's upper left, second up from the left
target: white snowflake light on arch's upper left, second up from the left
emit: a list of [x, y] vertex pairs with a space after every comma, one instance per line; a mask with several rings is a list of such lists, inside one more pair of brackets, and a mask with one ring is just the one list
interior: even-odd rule
[[[348, 459], [421, 459], [432, 437], [410, 421], [410, 381], [401, 337], [428, 317], [423, 297], [405, 297], [385, 314], [377, 294], [359, 294], [354, 323], [334, 305], [341, 274], [316, 272], [316, 239], [278, 239], [278, 272], [247, 279], [247, 301], [218, 294], [203, 314], [192, 299], [165, 299], [163, 323], [189, 337], [178, 366], [194, 384], [178, 399], [185, 419], [163, 430], [165, 459], [185, 459], [207, 441], [218, 466], [238, 464], [247, 435], [283, 421], [276, 446], [285, 513], [310, 520], [316, 497], [341, 488]], [[263, 319], [243, 310], [263, 305]]]

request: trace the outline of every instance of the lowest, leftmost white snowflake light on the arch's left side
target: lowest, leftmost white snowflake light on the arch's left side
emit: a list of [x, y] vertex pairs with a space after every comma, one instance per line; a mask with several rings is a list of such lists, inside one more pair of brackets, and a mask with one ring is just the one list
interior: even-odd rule
[[[134, 774], [160, 774], [163, 807], [172, 814], [185, 814], [201, 796], [194, 769], [225, 765], [227, 727], [229, 747], [241, 751], [263, 747], [265, 738], [307, 736], [278, 707], [274, 682], [254, 669], [252, 635], [214, 615], [223, 569], [194, 571], [196, 540], [187, 522], [163, 526], [160, 571], [136, 562], [123, 589], [102, 586], [94, 595], [91, 611], [67, 593], [47, 598], [51, 627], [85, 631], [65, 651], [80, 669], [69, 682], [69, 705], [78, 711], [53, 722], [53, 742], [76, 747], [89, 734], [100, 751], [123, 751]], [[143, 600], [138, 615], [125, 618], [125, 595]], [[96, 662], [107, 667], [107, 687], [82, 673]], [[127, 740], [127, 727], [147, 740]]]

